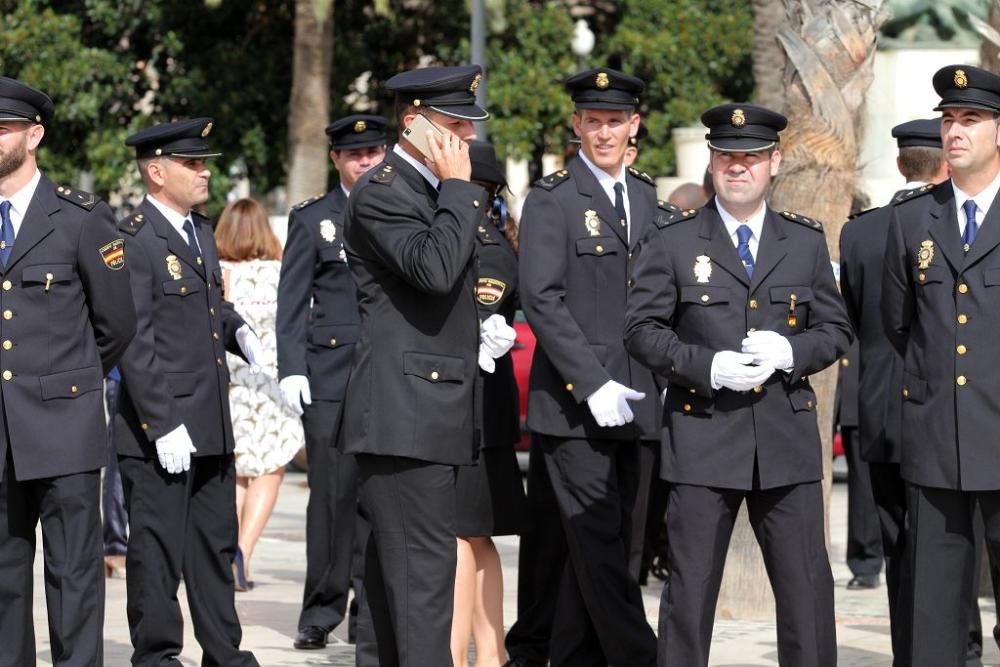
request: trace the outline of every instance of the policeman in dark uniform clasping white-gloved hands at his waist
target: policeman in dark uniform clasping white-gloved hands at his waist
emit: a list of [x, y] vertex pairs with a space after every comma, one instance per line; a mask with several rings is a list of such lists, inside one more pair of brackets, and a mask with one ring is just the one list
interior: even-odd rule
[[669, 381], [660, 664], [708, 664], [745, 500], [777, 603], [778, 661], [832, 667], [833, 576], [808, 376], [840, 358], [853, 335], [822, 227], [764, 201], [785, 117], [724, 104], [701, 120], [718, 194], [699, 211], [660, 210], [637, 254], [625, 332], [629, 351]]

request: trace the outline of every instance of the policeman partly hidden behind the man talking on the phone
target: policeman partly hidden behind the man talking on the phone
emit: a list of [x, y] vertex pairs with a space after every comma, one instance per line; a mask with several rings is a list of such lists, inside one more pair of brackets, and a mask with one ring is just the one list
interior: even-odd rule
[[[358, 468], [354, 457], [342, 455], [335, 445], [361, 320], [347, 268], [343, 219], [355, 182], [385, 157], [385, 125], [381, 116], [353, 115], [326, 128], [340, 182], [326, 195], [292, 207], [281, 258], [278, 375], [289, 408], [302, 415], [309, 460], [299, 649], [326, 646], [327, 635], [347, 612]], [[360, 583], [359, 577], [355, 600]]]

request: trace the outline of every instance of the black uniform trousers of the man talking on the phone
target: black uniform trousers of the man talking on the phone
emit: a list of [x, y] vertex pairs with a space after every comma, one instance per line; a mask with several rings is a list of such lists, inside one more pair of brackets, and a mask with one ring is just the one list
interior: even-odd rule
[[455, 467], [398, 456], [356, 458], [371, 526], [365, 549], [371, 626], [359, 622], [358, 649], [371, 646], [372, 632], [382, 667], [450, 665]]

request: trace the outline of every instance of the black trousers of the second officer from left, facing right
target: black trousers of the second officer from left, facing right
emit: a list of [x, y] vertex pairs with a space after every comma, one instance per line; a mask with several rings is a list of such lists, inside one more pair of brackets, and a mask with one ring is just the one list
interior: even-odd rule
[[184, 619], [177, 602], [183, 573], [201, 664], [257, 665], [240, 651], [233, 602], [236, 473], [232, 454], [191, 458], [169, 474], [156, 459], [119, 458], [129, 513], [128, 623], [133, 665], [177, 665]]

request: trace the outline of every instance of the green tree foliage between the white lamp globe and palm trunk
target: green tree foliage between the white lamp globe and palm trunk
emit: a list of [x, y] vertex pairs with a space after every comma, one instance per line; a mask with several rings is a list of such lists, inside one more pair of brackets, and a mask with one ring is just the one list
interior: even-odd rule
[[641, 112], [649, 138], [637, 168], [673, 172], [670, 131], [697, 125], [701, 113], [753, 92], [753, 15], [749, 0], [623, 0], [614, 33], [598, 37], [609, 66], [646, 82]]

